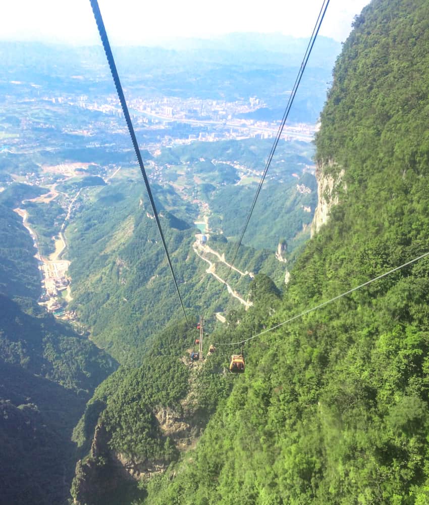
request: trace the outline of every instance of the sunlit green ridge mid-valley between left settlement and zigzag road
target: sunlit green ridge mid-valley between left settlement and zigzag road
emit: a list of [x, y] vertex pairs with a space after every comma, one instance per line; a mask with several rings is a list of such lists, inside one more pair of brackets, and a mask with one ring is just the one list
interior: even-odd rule
[[[70, 306], [91, 329], [94, 342], [128, 366], [142, 363], [149, 337], [183, 317], [152, 211], [138, 182], [103, 187], [67, 234]], [[156, 205], [186, 310], [194, 315], [205, 312], [213, 320], [215, 312], [239, 309], [240, 303], [207, 274], [207, 263], [197, 257], [193, 244], [199, 230], [166, 211], [162, 201]], [[209, 245], [231, 261], [234, 242], [210, 234]], [[236, 267], [270, 274], [284, 284], [285, 264], [273, 251], [243, 246]], [[225, 265], [217, 267], [223, 278], [227, 271]], [[233, 272], [229, 282], [247, 297], [251, 278], [239, 277]]]

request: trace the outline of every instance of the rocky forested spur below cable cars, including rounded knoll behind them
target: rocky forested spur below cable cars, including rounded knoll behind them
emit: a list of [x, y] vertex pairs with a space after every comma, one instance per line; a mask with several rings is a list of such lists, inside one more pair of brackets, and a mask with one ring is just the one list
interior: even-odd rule
[[255, 276], [251, 293], [251, 311], [232, 312], [228, 325], [205, 335], [204, 361], [189, 360], [199, 332], [182, 321], [150, 340], [140, 367], [121, 367], [100, 384], [74, 430], [84, 456], [72, 486], [76, 503], [119, 505], [141, 499], [148, 478], [195, 446], [236, 380], [225, 370], [230, 348], [221, 346], [211, 354], [209, 344], [262, 329], [264, 313], [280, 299], [263, 274]]

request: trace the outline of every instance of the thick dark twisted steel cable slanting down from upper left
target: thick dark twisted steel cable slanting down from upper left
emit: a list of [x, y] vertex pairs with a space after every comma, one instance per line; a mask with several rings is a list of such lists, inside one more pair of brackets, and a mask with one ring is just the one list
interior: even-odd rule
[[176, 286], [176, 291], [179, 296], [180, 305], [182, 307], [182, 311], [185, 316], [186, 324], [189, 326], [188, 318], [186, 316], [185, 307], [184, 307], [183, 301], [182, 301], [182, 296], [180, 295], [179, 286], [176, 281], [176, 276], [174, 275], [173, 265], [171, 263], [169, 251], [167, 249], [167, 244], [166, 244], [166, 241], [164, 238], [164, 233], [163, 233], [161, 224], [159, 222], [158, 213], [156, 212], [156, 207], [155, 207], [155, 202], [153, 200], [152, 191], [150, 190], [149, 181], [148, 181], [147, 175], [146, 175], [146, 170], [144, 168], [143, 160], [141, 158], [141, 153], [140, 153], [140, 149], [139, 149], [139, 146], [137, 143], [137, 138], [136, 138], [136, 135], [134, 132], [133, 124], [131, 122], [130, 113], [128, 112], [128, 106], [127, 106], [127, 103], [125, 100], [124, 91], [122, 89], [121, 81], [119, 79], [118, 70], [116, 69], [115, 60], [113, 58], [112, 49], [111, 49], [110, 43], [109, 43], [109, 38], [107, 36], [106, 30], [104, 27], [103, 18], [101, 16], [100, 8], [98, 7], [97, 0], [89, 0], [89, 1], [91, 3], [92, 12], [94, 13], [95, 22], [97, 23], [98, 32], [100, 34], [101, 42], [102, 42], [103, 48], [104, 48], [104, 53], [106, 55], [110, 70], [112, 72], [112, 77], [115, 82], [116, 91], [118, 93], [118, 97], [121, 102], [122, 110], [124, 112], [125, 121], [127, 122], [127, 126], [128, 126], [128, 131], [130, 133], [130, 137], [133, 142], [133, 146], [134, 146], [134, 150], [135, 150], [135, 153], [137, 156], [138, 164], [140, 166], [141, 175], [143, 176], [144, 184], [146, 186], [147, 195], [149, 197], [150, 205], [152, 207], [153, 215], [155, 217], [156, 226], [158, 227], [159, 235], [160, 235], [161, 240], [163, 242], [164, 251], [166, 253], [166, 257], [167, 257], [168, 264], [170, 266], [174, 285]]

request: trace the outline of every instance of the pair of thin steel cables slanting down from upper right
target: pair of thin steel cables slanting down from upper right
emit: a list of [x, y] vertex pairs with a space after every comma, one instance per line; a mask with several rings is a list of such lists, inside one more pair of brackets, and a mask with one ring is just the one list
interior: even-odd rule
[[278, 143], [280, 141], [280, 137], [281, 137], [281, 135], [283, 133], [283, 129], [284, 129], [284, 126], [286, 124], [286, 120], [287, 120], [287, 118], [289, 116], [289, 112], [291, 110], [293, 101], [295, 99], [295, 95], [296, 95], [296, 92], [298, 90], [299, 84], [301, 82], [302, 75], [304, 73], [305, 67], [307, 66], [308, 59], [310, 57], [312, 48], [314, 46], [314, 42], [316, 41], [316, 38], [317, 38], [317, 35], [318, 35], [318, 32], [319, 32], [321, 23], [322, 23], [322, 21], [323, 21], [323, 19], [325, 17], [326, 10], [328, 9], [329, 2], [330, 2], [330, 0], [324, 0], [323, 1], [323, 4], [322, 4], [322, 6], [320, 8], [320, 11], [319, 11], [319, 14], [317, 16], [317, 20], [316, 20], [316, 23], [314, 25], [313, 32], [311, 34], [310, 40], [309, 40], [308, 45], [307, 45], [307, 49], [306, 49], [305, 54], [304, 54], [304, 58], [303, 58], [302, 63], [301, 63], [301, 67], [300, 67], [300, 69], [298, 71], [298, 74], [296, 76], [295, 84], [294, 84], [292, 92], [291, 92], [291, 94], [289, 96], [289, 100], [288, 100], [288, 103], [286, 105], [285, 112], [283, 114], [282, 122], [281, 122], [281, 124], [279, 126], [279, 130], [277, 132], [276, 138], [275, 138], [274, 143], [273, 143], [273, 145], [271, 147], [270, 154], [269, 154], [269, 156], [267, 158], [267, 161], [266, 161], [266, 164], [265, 164], [265, 168], [263, 170], [263, 174], [262, 174], [261, 180], [259, 181], [258, 188], [256, 190], [255, 196], [253, 197], [253, 202], [252, 202], [252, 205], [250, 207], [250, 211], [248, 213], [248, 216], [247, 216], [246, 223], [244, 225], [243, 231], [241, 232], [241, 236], [240, 236], [240, 239], [238, 241], [237, 248], [236, 248], [236, 250], [234, 252], [234, 256], [233, 256], [233, 259], [231, 261], [231, 267], [228, 270], [228, 274], [227, 274], [227, 276], [225, 278], [225, 284], [224, 284], [224, 287], [222, 288], [222, 291], [225, 289], [225, 286], [226, 286], [227, 281], [228, 281], [228, 277], [229, 277], [229, 275], [231, 273], [232, 267], [234, 266], [234, 262], [235, 262], [235, 260], [237, 258], [238, 250], [239, 250], [239, 248], [241, 246], [241, 243], [243, 241], [243, 237], [244, 237], [244, 234], [246, 233], [247, 226], [249, 225], [250, 218], [251, 218], [252, 213], [253, 213], [253, 209], [255, 208], [255, 205], [256, 205], [256, 200], [258, 199], [260, 190], [262, 189], [262, 184], [264, 183], [264, 180], [265, 180], [266, 173], [268, 172], [268, 169], [270, 168], [271, 162], [272, 162], [273, 157], [274, 157], [274, 153], [275, 153], [277, 145], [278, 145]]

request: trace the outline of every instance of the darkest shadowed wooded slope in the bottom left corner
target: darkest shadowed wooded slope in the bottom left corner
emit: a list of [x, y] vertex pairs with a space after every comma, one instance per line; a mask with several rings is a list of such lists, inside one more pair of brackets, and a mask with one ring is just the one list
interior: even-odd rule
[[3, 360], [0, 385], [1, 501], [64, 503], [76, 461], [70, 434], [84, 397]]

